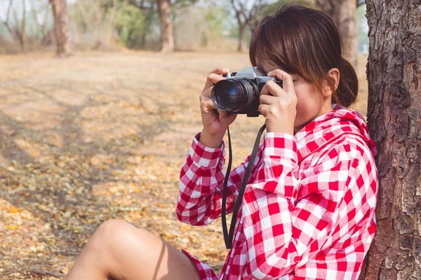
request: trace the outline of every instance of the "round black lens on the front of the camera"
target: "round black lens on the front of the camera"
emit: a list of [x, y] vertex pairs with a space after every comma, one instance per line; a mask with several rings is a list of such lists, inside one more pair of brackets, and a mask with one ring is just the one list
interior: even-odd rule
[[255, 89], [248, 79], [227, 79], [215, 83], [212, 100], [220, 111], [239, 111], [253, 101]]

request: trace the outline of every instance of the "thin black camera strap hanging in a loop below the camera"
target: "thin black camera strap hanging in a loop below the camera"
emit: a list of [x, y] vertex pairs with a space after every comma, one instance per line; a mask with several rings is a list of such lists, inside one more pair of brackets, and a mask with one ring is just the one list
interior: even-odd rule
[[234, 239], [234, 228], [236, 224], [236, 218], [239, 214], [241, 202], [243, 201], [244, 191], [246, 190], [248, 178], [250, 177], [250, 174], [251, 174], [251, 169], [253, 169], [256, 154], [258, 153], [260, 138], [262, 137], [262, 133], [265, 131], [265, 129], [266, 129], [266, 124], [260, 127], [260, 130], [258, 132], [258, 137], [256, 137], [255, 144], [253, 146], [253, 152], [251, 152], [250, 160], [248, 160], [246, 174], [244, 174], [243, 181], [241, 182], [241, 187], [239, 189], [239, 194], [235, 202], [234, 211], [232, 212], [231, 225], [229, 225], [229, 234], [227, 230], [227, 217], [226, 217], [227, 185], [228, 185], [229, 173], [231, 172], [231, 165], [232, 165], [232, 148], [231, 148], [231, 136], [229, 135], [229, 127], [227, 129], [228, 130], [229, 161], [228, 161], [227, 173], [225, 174], [224, 188], [222, 190], [222, 214], [221, 214], [222, 231], [224, 232], [225, 247], [227, 249], [232, 248], [232, 240]]

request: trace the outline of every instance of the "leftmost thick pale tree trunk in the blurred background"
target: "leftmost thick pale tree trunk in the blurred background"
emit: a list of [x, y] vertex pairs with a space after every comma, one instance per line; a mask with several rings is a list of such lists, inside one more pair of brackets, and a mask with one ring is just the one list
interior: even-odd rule
[[50, 0], [53, 6], [54, 36], [57, 45], [57, 55], [67, 57], [74, 54], [74, 44], [69, 28], [66, 0]]

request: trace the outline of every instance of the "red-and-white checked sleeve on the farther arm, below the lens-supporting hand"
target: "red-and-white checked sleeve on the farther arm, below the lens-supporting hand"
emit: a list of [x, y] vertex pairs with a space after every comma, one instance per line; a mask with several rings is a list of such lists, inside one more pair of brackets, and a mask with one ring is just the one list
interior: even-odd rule
[[[206, 225], [221, 216], [222, 190], [225, 179], [225, 146], [208, 148], [194, 137], [189, 155], [180, 172], [180, 190], [175, 213], [183, 223]], [[260, 151], [261, 153], [261, 151]], [[227, 214], [232, 213], [239, 187], [248, 165], [248, 157], [229, 174]], [[256, 156], [256, 161], [258, 156]]]

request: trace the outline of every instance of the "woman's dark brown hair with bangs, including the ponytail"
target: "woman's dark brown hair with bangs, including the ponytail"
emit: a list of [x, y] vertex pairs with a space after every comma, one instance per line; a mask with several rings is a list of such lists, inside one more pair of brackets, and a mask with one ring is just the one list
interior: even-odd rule
[[[289, 73], [297, 73], [319, 89], [333, 90], [332, 103], [349, 106], [358, 94], [354, 68], [342, 58], [340, 35], [333, 20], [322, 10], [303, 3], [279, 6], [274, 15], [262, 19], [250, 42], [250, 62], [273, 62]], [[338, 68], [335, 90], [328, 71]]]

